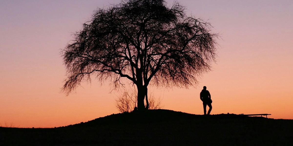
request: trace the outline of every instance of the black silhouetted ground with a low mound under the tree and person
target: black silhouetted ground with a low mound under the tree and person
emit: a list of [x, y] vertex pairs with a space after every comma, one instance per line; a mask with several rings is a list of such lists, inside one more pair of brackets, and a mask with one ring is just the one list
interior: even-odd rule
[[0, 127], [0, 145], [293, 145], [293, 120], [156, 109], [58, 128]]

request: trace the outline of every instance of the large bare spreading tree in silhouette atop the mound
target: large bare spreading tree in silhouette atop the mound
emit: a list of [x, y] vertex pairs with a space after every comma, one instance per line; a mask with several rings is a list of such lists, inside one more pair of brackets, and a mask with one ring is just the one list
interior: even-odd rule
[[122, 0], [98, 8], [62, 51], [68, 76], [62, 90], [68, 95], [91, 74], [115, 88], [125, 78], [137, 87], [138, 110], [148, 109], [149, 85], [188, 88], [210, 71], [219, 37], [211, 29], [178, 2]]

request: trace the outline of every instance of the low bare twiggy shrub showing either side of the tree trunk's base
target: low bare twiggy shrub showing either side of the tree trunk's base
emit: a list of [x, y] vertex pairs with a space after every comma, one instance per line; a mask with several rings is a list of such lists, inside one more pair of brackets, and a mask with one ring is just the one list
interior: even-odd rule
[[[149, 109], [161, 109], [164, 106], [162, 105], [162, 100], [159, 97], [155, 100], [154, 94], [148, 92], [149, 97]], [[137, 91], [135, 89], [125, 90], [118, 96], [116, 99], [116, 108], [119, 112], [131, 112], [137, 104]]]

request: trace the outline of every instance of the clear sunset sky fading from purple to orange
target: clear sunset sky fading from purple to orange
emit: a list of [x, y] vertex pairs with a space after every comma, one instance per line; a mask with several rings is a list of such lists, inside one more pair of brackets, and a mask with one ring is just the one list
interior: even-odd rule
[[[120, 0], [0, 1], [0, 126], [51, 128], [119, 113], [108, 82], [93, 80], [66, 96], [60, 55], [97, 8]], [[293, 119], [293, 1], [178, 0], [219, 33], [217, 62], [196, 87], [150, 87], [164, 109], [203, 114], [272, 114]], [[167, 0], [168, 6], [173, 0]], [[208, 107], [207, 107], [208, 108]]]

